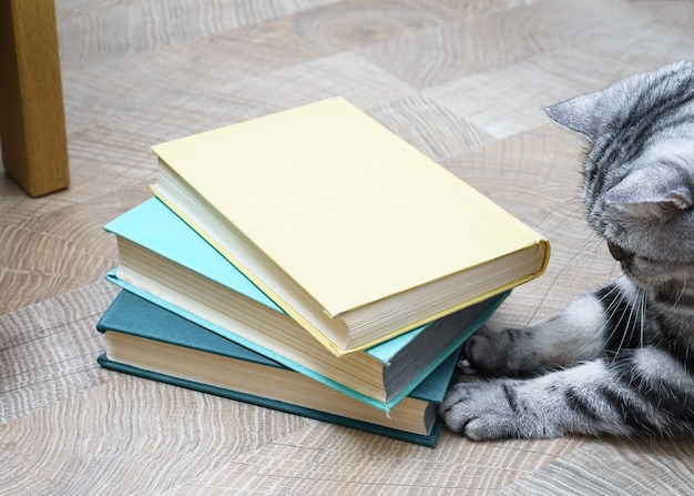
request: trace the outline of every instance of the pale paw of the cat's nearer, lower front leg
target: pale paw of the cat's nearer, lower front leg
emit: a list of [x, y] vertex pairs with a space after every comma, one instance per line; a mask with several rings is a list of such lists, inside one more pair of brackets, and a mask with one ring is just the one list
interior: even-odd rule
[[474, 441], [525, 437], [518, 429], [516, 393], [498, 381], [459, 383], [440, 406], [446, 425]]

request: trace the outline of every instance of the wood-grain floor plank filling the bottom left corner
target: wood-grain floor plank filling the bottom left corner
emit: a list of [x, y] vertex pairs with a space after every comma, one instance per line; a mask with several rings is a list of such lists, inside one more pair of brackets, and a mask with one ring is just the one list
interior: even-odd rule
[[0, 425], [3, 495], [165, 494], [313, 422], [101, 373], [102, 384]]

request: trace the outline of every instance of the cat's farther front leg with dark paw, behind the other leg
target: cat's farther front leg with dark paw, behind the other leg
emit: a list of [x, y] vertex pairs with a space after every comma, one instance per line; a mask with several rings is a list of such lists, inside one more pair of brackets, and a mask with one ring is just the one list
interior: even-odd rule
[[626, 290], [621, 283], [611, 284], [529, 327], [482, 327], [466, 342], [459, 364], [466, 373], [513, 376], [602, 356], [606, 312], [601, 295]]

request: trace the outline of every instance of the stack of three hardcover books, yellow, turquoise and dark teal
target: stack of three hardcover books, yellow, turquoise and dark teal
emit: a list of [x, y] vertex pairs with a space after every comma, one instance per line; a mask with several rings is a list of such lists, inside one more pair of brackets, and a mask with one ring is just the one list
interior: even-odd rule
[[549, 243], [341, 98], [159, 144], [110, 222], [109, 368], [433, 446], [456, 357]]

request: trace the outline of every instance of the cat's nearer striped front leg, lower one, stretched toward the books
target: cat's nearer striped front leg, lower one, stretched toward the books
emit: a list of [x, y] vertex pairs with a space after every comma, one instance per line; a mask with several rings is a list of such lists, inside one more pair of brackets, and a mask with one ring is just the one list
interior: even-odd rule
[[471, 439], [551, 438], [571, 434], [676, 434], [694, 428], [692, 376], [665, 351], [624, 352], [518, 379], [453, 386], [440, 407], [446, 424]]

